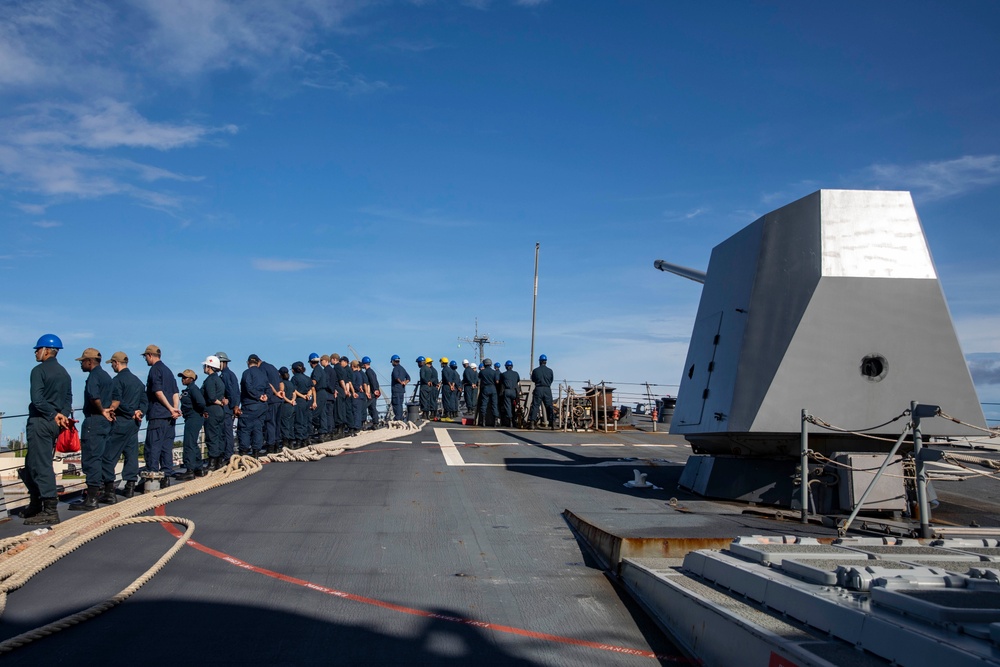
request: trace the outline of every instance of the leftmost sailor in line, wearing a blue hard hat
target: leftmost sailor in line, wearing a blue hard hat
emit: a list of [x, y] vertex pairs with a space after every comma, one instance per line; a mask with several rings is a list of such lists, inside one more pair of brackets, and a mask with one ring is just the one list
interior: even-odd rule
[[70, 426], [73, 409], [72, 381], [56, 360], [61, 349], [62, 341], [54, 334], [45, 334], [35, 343], [38, 365], [31, 369], [31, 403], [26, 429], [28, 453], [21, 473], [30, 499], [24, 511], [26, 526], [59, 523], [52, 455], [59, 431]]

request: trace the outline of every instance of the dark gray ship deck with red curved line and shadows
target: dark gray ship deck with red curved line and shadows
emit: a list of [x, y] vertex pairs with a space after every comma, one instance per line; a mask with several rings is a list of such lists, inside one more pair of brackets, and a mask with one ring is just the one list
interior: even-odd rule
[[[447, 428], [462, 443], [456, 447], [466, 462], [498, 465], [448, 465], [428, 426], [399, 438], [407, 442], [370, 445], [313, 463], [270, 464], [243, 482], [166, 507], [168, 514], [197, 523], [193, 539], [205, 547], [357, 598], [185, 547], [120, 606], [0, 660], [4, 665], [687, 663], [594, 566], [561, 516], [567, 507], [664, 508], [676, 492], [625, 488], [632, 478], [629, 466], [641, 462], [621, 459], [679, 462], [689, 453], [686, 446], [634, 446], [678, 442], [663, 434]], [[562, 444], [549, 444], [556, 442]], [[607, 446], [580, 446], [601, 443]], [[673, 472], [679, 475], [679, 468]], [[64, 520], [72, 516], [62, 509]], [[0, 525], [0, 536], [23, 532], [20, 524], [15, 518]], [[70, 554], [11, 594], [0, 637], [110, 597], [174, 539], [161, 526], [132, 526]]]

